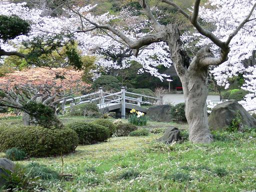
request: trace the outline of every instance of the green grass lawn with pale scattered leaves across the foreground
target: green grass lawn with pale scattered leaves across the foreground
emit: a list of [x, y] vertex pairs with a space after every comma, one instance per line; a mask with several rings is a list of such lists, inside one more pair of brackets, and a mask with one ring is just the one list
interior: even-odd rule
[[[62, 117], [64, 123], [83, 117]], [[85, 119], [93, 120], [93, 119]], [[21, 119], [0, 120], [19, 124]], [[186, 124], [149, 121], [146, 128]], [[188, 141], [165, 145], [162, 134], [112, 137], [107, 142], [82, 145], [63, 156], [64, 173], [71, 179], [40, 180], [44, 191], [255, 191], [256, 132], [214, 132], [211, 144]], [[3, 156], [4, 153], [0, 153]], [[61, 158], [30, 158], [61, 172]]]

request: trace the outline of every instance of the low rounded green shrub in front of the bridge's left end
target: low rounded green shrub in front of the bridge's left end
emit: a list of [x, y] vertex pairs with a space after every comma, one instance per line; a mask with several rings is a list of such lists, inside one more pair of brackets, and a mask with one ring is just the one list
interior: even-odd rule
[[98, 116], [99, 111], [96, 103], [84, 103], [75, 105], [68, 115], [71, 116]]

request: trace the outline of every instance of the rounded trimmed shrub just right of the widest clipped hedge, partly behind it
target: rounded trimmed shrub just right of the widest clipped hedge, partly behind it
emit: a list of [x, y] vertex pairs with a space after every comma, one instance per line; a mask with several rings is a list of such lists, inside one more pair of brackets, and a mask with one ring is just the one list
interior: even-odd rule
[[91, 122], [74, 122], [66, 125], [73, 129], [79, 138], [79, 144], [93, 144], [110, 137], [107, 127]]

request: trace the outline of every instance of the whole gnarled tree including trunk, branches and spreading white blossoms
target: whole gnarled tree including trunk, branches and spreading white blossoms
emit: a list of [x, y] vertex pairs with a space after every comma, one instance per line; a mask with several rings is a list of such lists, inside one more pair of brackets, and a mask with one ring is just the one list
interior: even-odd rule
[[[141, 72], [148, 70], [156, 76], [161, 76], [154, 69], [154, 66], [157, 64], [156, 60], [158, 60], [159, 63], [166, 63], [167, 66], [171, 63], [169, 61], [170, 57], [182, 82], [185, 97], [185, 115], [189, 124], [189, 140], [195, 143], [210, 142], [212, 138], [208, 128], [205, 102], [208, 92], [208, 68], [212, 65], [218, 66], [221, 63], [228, 62], [228, 53], [233, 51], [233, 47], [240, 46], [240, 43], [244, 42], [242, 40], [240, 41], [240, 38], [243, 37], [245, 39], [246, 33], [241, 33], [240, 35], [240, 31], [244, 31], [244, 28], [250, 26], [249, 24], [254, 21], [256, 1], [231, 0], [232, 5], [229, 3], [230, 0], [211, 1], [216, 10], [221, 10], [222, 7], [229, 6], [228, 11], [237, 11], [236, 14], [221, 11], [218, 14], [217, 11], [213, 13], [214, 17], [218, 18], [218, 21], [215, 22], [215, 27], [217, 29], [221, 28], [219, 30], [221, 32], [218, 33], [215, 32], [215, 30], [209, 30], [201, 25], [201, 19], [204, 19], [204, 16], [209, 16], [208, 22], [214, 17], [206, 14], [209, 10], [199, 6], [200, 0], [194, 0], [193, 9], [190, 14], [171, 0], [160, 0], [163, 3], [175, 7], [190, 21], [198, 33], [205, 37], [205, 43], [201, 43], [201, 45], [207, 44], [210, 46], [210, 48], [200, 48], [192, 61], [190, 61], [187, 52], [182, 48], [177, 24], [160, 24], [157, 21], [157, 17], [152, 14], [151, 9], [147, 6], [146, 1], [138, 1], [150, 20], [151, 29], [147, 30], [148, 32], [142, 33], [137, 31], [136, 26], [134, 26], [135, 28], [127, 29], [116, 24], [109, 24], [109, 21], [114, 17], [108, 13], [100, 16], [92, 15], [90, 11], [93, 9], [93, 6], [80, 8], [72, 7], [66, 3], [67, 8], [63, 10], [65, 13], [62, 16], [38, 18], [35, 16], [33, 19], [34, 24], [31, 25], [32, 32], [30, 32], [29, 37], [33, 35], [36, 36], [42, 32], [47, 32], [48, 35], [60, 32], [72, 33], [75, 35], [84, 54], [92, 54], [95, 50], [101, 50], [101, 52], [107, 50], [108, 52], [110, 51], [112, 55], [114, 55], [116, 51], [117, 53], [126, 52], [127, 56], [124, 57], [122, 65], [128, 65], [128, 59], [134, 59], [143, 64]], [[242, 3], [243, 5], [241, 5]], [[17, 11], [17, 15], [22, 16], [22, 14], [24, 14], [19, 12], [16, 7], [14, 9]], [[240, 11], [241, 9], [242, 11]], [[2, 8], [0, 10], [2, 11]], [[229, 17], [226, 16], [227, 14], [229, 14]], [[225, 19], [221, 20], [221, 17]], [[233, 17], [235, 17], [235, 19], [233, 19]], [[145, 20], [147, 20], [147, 18], [145, 18]], [[125, 22], [128, 21], [129, 19], [125, 20]], [[137, 21], [141, 23], [138, 28], [145, 28], [144, 20], [140, 18], [137, 19]], [[250, 34], [250, 28], [247, 34]], [[27, 37], [22, 36], [22, 38], [25, 39]], [[20, 37], [20, 39], [22, 38]], [[13, 41], [20, 39], [13, 39]], [[216, 57], [214, 57], [213, 53], [216, 54]], [[155, 59], [155, 55], [157, 59]], [[108, 64], [108, 62], [105, 62], [105, 59], [99, 59], [98, 62], [103, 65]], [[118, 63], [113, 60], [112, 65], [116, 66], [117, 64]]]

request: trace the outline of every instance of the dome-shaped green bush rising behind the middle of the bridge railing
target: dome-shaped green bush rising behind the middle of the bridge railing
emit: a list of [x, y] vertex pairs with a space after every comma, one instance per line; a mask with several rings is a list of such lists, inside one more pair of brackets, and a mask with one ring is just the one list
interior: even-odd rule
[[118, 79], [111, 75], [102, 75], [96, 78], [91, 86], [93, 89], [102, 87], [103, 90], [120, 89], [120, 83]]

